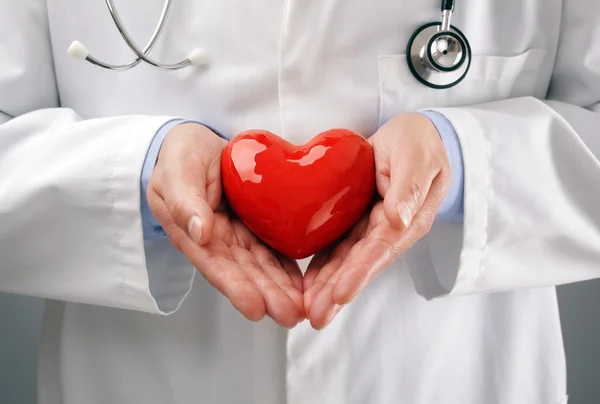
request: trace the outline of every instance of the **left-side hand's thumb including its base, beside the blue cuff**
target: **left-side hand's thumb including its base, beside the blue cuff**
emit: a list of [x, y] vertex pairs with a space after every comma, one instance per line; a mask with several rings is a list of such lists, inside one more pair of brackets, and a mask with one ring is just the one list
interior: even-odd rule
[[[170, 171], [169, 178], [157, 188], [157, 193], [175, 224], [196, 244], [206, 244], [214, 228], [213, 209], [206, 200], [206, 181], [203, 175]], [[162, 174], [162, 177], [167, 174]]]

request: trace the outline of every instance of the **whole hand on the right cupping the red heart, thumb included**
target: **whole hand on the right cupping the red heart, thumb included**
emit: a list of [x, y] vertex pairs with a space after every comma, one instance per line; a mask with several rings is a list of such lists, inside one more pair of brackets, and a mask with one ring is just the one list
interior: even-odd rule
[[382, 200], [339, 242], [315, 255], [304, 276], [304, 306], [324, 328], [364, 287], [426, 235], [450, 186], [450, 165], [429, 118], [401, 114], [371, 138]]

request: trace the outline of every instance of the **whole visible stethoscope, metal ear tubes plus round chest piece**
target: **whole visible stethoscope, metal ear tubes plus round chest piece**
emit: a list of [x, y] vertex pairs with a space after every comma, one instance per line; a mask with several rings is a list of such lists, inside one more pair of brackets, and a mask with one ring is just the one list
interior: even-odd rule
[[[206, 51], [196, 48], [190, 52], [187, 59], [173, 64], [159, 63], [148, 55], [165, 25], [165, 20], [171, 8], [172, 0], [165, 0], [158, 24], [143, 49], [140, 49], [131, 38], [113, 0], [105, 0], [108, 11], [121, 34], [121, 37], [136, 55], [128, 63], [115, 65], [102, 62], [89, 54], [85, 45], [75, 41], [68, 49], [68, 54], [81, 60], [114, 71], [125, 71], [137, 66], [140, 62], [160, 70], [178, 70], [188, 66], [202, 66], [208, 63]], [[419, 27], [408, 41], [406, 47], [406, 62], [417, 80], [427, 87], [444, 89], [460, 83], [467, 75], [471, 66], [471, 47], [466, 36], [456, 27], [450, 25], [454, 11], [454, 0], [442, 0], [442, 21], [431, 22]]]

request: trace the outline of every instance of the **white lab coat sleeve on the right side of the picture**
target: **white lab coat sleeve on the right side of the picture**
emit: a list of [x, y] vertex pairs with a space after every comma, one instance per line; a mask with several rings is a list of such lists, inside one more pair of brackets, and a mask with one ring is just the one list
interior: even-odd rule
[[547, 99], [439, 108], [464, 159], [464, 222], [405, 254], [431, 299], [600, 277], [600, 2], [564, 2]]

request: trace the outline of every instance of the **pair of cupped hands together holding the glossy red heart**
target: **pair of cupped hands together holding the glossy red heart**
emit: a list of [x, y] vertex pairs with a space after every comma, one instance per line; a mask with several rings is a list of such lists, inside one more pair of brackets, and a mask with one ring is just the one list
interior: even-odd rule
[[171, 129], [148, 184], [148, 203], [175, 248], [246, 318], [322, 329], [368, 283], [429, 232], [450, 184], [439, 133], [400, 114], [369, 138], [380, 198], [340, 240], [297, 262], [257, 239], [222, 197], [227, 142], [185, 123]]

